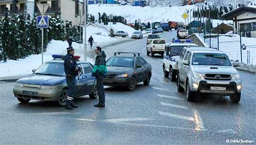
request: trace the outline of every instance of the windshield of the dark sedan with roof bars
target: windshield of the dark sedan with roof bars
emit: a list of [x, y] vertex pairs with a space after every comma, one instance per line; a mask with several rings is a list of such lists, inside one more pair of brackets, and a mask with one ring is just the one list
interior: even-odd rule
[[112, 57], [106, 62], [106, 66], [133, 67], [134, 58]]

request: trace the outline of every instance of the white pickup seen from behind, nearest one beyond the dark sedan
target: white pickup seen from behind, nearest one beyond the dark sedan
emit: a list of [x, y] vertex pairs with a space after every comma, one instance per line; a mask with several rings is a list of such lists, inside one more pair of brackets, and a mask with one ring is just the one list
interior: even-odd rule
[[151, 56], [154, 57], [154, 54], [164, 55], [164, 49], [166, 45], [166, 40], [164, 39], [152, 39], [147, 45], [147, 56], [151, 53]]

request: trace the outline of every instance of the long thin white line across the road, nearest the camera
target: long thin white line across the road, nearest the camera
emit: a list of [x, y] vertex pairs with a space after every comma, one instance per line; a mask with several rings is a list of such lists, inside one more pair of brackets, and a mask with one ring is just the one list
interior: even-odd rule
[[[71, 118], [71, 119], [73, 119], [73, 118]], [[90, 122], [100, 122], [100, 123], [114, 123], [114, 124], [121, 124], [121, 125], [145, 126], [145, 127], [160, 127], [160, 128], [167, 128], [167, 129], [195, 130], [195, 129], [185, 128], [185, 127], [173, 127], [173, 126], [161, 126], [161, 125], [146, 125], [146, 124], [127, 123], [127, 122], [110, 122], [110, 121], [102, 121], [102, 120], [98, 121], [98, 120], [89, 120], [89, 119], [84, 119], [84, 118], [75, 118], [75, 120], [90, 121]], [[207, 131], [207, 130], [195, 130], [195, 131]]]

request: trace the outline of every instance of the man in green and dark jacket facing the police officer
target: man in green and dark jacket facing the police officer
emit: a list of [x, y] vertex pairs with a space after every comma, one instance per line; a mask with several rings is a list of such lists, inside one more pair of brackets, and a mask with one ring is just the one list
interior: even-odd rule
[[101, 51], [99, 46], [96, 47], [95, 53], [97, 54], [95, 65], [93, 67], [92, 75], [96, 76], [97, 79], [97, 91], [99, 97], [99, 103], [94, 105], [96, 107], [105, 107], [105, 92], [103, 86], [103, 78], [106, 75], [106, 54], [104, 51]]

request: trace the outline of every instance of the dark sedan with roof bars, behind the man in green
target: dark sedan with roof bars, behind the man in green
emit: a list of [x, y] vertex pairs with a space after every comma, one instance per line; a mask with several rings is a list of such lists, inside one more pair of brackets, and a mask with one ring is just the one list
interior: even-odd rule
[[151, 65], [139, 53], [116, 52], [106, 66], [108, 73], [103, 79], [106, 86], [125, 86], [133, 91], [137, 83], [150, 84]]

